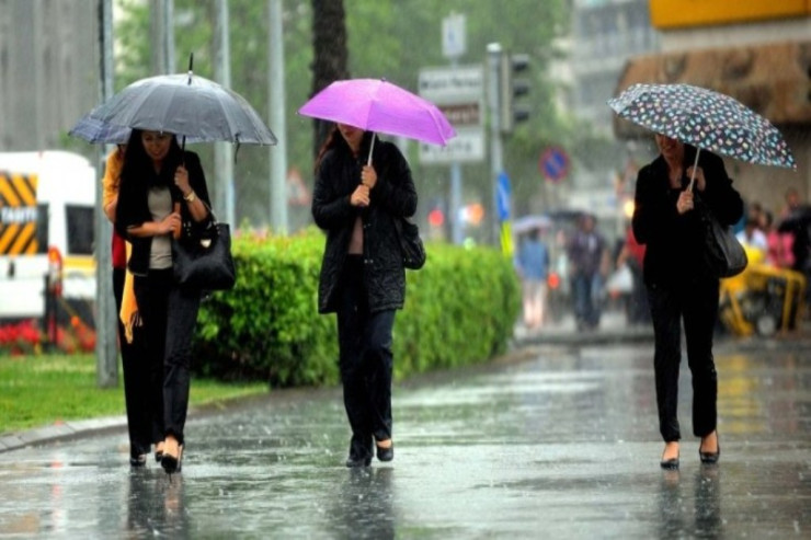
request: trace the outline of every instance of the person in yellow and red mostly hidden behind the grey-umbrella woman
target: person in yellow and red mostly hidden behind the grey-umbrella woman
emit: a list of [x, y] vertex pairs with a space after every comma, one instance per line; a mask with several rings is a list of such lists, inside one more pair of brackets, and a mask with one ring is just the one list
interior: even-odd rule
[[[111, 223], [115, 223], [115, 209], [118, 204], [118, 187], [125, 150], [126, 145], [117, 145], [107, 156], [106, 166], [104, 168], [102, 204], [104, 215]], [[134, 290], [132, 278], [128, 280], [129, 286], [125, 287], [125, 282], [127, 282], [126, 242], [115, 230], [113, 231], [112, 260], [113, 296], [115, 296], [116, 313], [121, 313], [124, 297], [128, 297], [130, 305], [134, 301], [132, 298]], [[160, 402], [162, 398], [159, 391], [155, 391], [155, 386], [150, 386], [150, 372], [145, 364], [142, 340], [134, 338], [133, 321], [127, 321], [129, 328], [126, 328], [121, 317], [116, 317], [116, 320], [118, 322], [118, 348], [124, 372], [124, 403], [129, 433], [129, 464], [142, 467], [147, 462], [147, 453], [149, 453], [152, 443], [155, 443], [157, 457], [162, 456], [163, 452], [163, 439], [152, 437], [152, 422], [150, 418], [153, 403]], [[151, 394], [150, 390], [152, 391]]]

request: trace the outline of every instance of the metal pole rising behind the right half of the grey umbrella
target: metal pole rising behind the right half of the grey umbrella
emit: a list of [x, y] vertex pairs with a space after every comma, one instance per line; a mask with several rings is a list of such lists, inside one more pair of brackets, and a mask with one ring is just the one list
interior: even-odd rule
[[[228, 0], [217, 0], [214, 69], [217, 82], [231, 87], [231, 46], [228, 36]], [[233, 210], [233, 152], [230, 142], [214, 146], [214, 214], [236, 225]]]

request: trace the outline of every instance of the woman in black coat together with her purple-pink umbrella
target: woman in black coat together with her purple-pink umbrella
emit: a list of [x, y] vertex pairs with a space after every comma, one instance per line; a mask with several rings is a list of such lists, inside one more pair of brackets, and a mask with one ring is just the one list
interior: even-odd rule
[[327, 231], [318, 309], [338, 314], [346, 467], [367, 467], [375, 448], [380, 461], [395, 457], [391, 332], [406, 299], [399, 229], [416, 211], [406, 158], [376, 145], [376, 133], [445, 145], [455, 131], [434, 104], [378, 79], [335, 81], [299, 113], [336, 123], [316, 162], [312, 216]]

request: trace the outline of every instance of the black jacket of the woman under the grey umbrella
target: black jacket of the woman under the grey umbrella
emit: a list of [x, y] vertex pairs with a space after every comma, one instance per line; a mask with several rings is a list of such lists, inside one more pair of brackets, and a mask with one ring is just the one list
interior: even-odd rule
[[[208, 188], [206, 187], [206, 177], [203, 173], [203, 166], [199, 163], [199, 157], [194, 152], [185, 152], [185, 168], [189, 171], [189, 184], [194, 193], [209, 208], [212, 206], [208, 198]], [[168, 162], [161, 170], [160, 176], [155, 174], [150, 168], [142, 169], [142, 175], [151, 174], [152, 177], [127, 177], [122, 174], [121, 188], [118, 192], [118, 205], [115, 212], [115, 229], [132, 245], [133, 252], [129, 256], [127, 267], [134, 275], [144, 276], [149, 271], [149, 253], [152, 248], [152, 237], [139, 238], [128, 233], [130, 227], [138, 227], [147, 221], [152, 221], [152, 215], [149, 211], [148, 193], [149, 186], [162, 184], [170, 186], [172, 194], [172, 204], [180, 203], [181, 218], [183, 219], [183, 239], [198, 235], [210, 220], [206, 219], [197, 223], [189, 211], [189, 206], [183, 200], [183, 194], [174, 185], [173, 176], [178, 163]]]

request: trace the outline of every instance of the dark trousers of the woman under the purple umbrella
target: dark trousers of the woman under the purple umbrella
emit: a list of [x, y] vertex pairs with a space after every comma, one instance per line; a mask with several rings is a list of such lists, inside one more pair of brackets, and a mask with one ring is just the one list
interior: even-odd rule
[[363, 260], [349, 255], [341, 276], [338, 340], [346, 416], [352, 427], [350, 456], [370, 457], [373, 438], [391, 438], [391, 331], [395, 310], [369, 312]]

